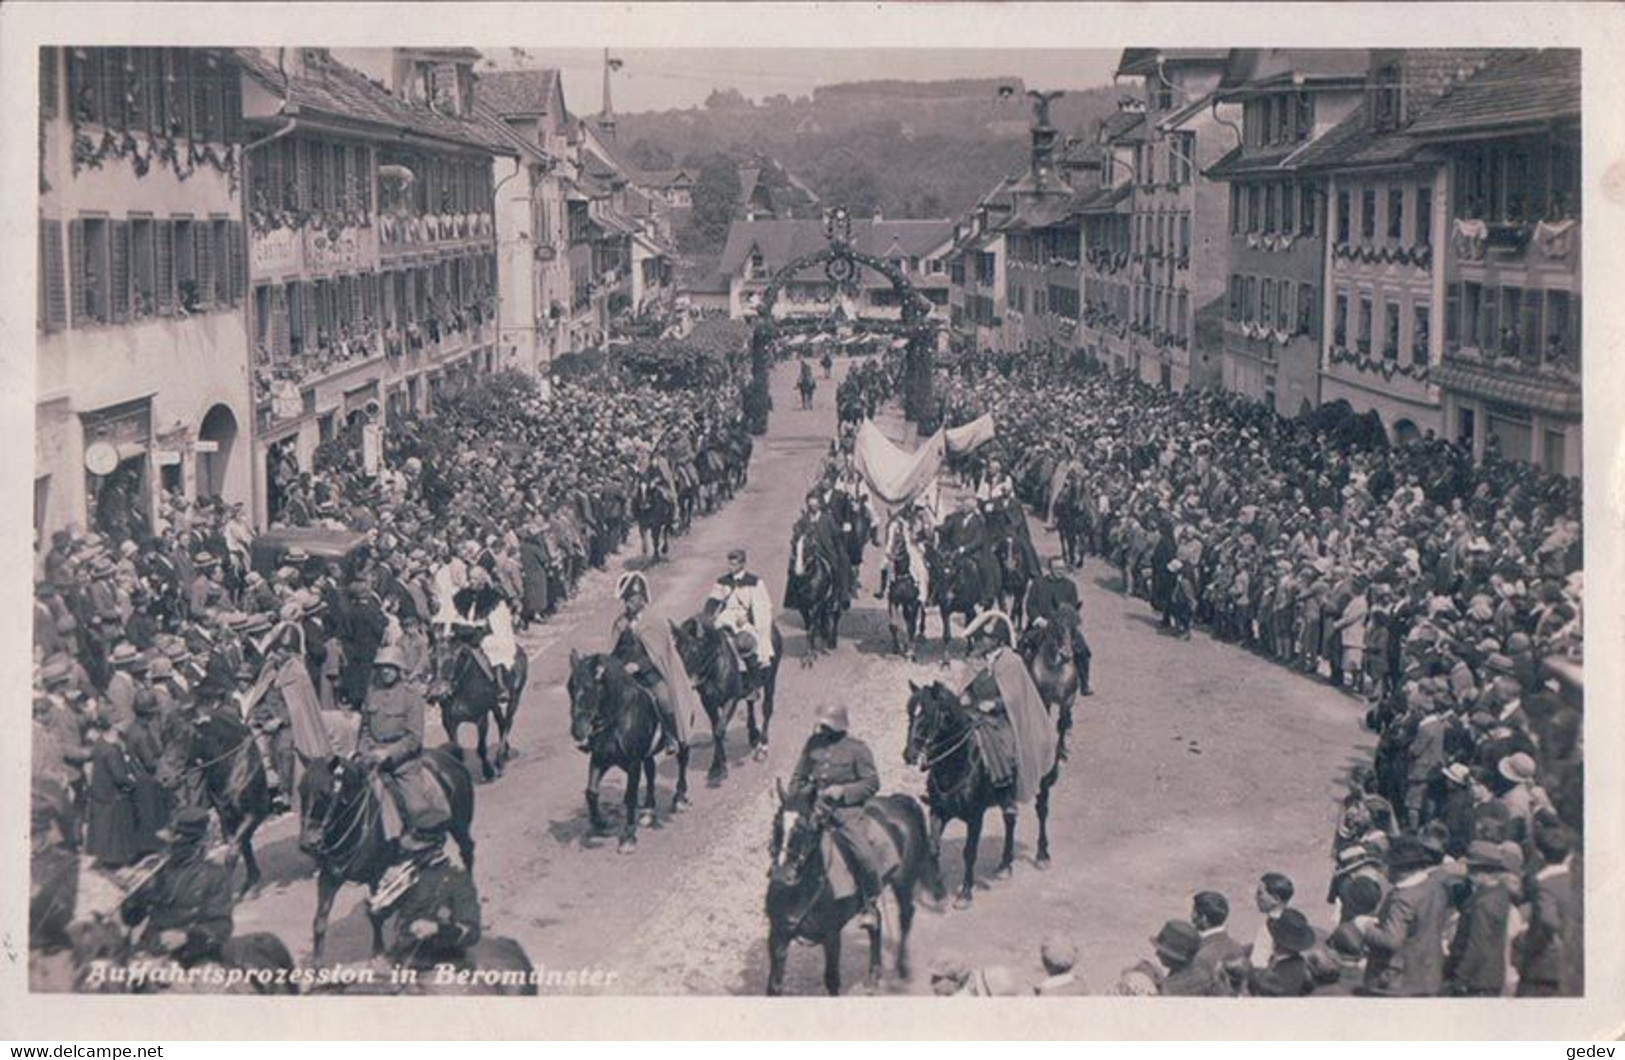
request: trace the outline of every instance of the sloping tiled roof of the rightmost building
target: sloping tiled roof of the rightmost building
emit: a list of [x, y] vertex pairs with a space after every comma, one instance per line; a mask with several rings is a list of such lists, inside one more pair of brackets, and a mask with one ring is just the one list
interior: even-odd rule
[[1428, 107], [1409, 133], [1435, 138], [1578, 117], [1580, 49], [1528, 50], [1490, 60]]

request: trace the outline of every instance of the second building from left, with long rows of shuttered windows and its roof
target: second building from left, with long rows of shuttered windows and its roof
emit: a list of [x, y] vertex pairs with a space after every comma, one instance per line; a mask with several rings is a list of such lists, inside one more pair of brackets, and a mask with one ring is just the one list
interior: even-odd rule
[[[499, 366], [492, 158], [468, 49], [239, 50], [257, 504], [317, 450], [372, 463], [392, 416]], [[390, 78], [384, 81], [382, 78]]]

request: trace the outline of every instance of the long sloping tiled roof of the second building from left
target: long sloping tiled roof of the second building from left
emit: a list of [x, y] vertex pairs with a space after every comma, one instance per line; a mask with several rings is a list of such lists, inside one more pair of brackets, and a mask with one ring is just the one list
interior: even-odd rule
[[288, 102], [297, 104], [301, 111], [385, 128], [406, 128], [422, 137], [499, 154], [517, 154], [515, 148], [509, 146], [483, 122], [439, 114], [429, 107], [406, 102], [336, 59], [327, 60], [322, 76], [289, 76], [284, 89], [281, 72], [257, 49], [242, 47], [236, 54], [250, 76], [276, 96], [283, 96], [286, 91]]

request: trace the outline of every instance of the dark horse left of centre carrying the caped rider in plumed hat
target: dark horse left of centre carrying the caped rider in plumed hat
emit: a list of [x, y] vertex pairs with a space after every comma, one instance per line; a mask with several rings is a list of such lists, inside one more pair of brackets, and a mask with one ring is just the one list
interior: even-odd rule
[[[570, 740], [587, 754], [587, 815], [593, 832], [609, 829], [598, 810], [598, 785], [609, 769], [626, 774], [626, 819], [621, 824], [621, 854], [637, 849], [637, 787], [647, 784], [644, 824], [658, 824], [655, 808], [655, 751], [660, 746], [660, 709], [655, 694], [642, 688], [613, 655], [580, 655], [570, 650]], [[678, 787], [671, 797], [676, 813], [689, 800], [689, 749], [678, 748]]]

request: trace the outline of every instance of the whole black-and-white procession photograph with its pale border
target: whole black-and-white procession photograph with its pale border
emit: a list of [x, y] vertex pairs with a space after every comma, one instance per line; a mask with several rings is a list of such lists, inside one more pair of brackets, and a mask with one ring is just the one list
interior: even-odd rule
[[1618, 985], [1607, 44], [291, 7], [8, 49], [24, 1005]]

